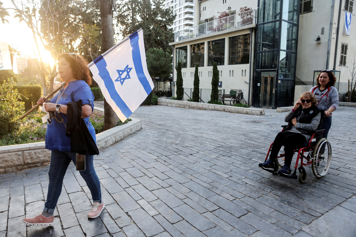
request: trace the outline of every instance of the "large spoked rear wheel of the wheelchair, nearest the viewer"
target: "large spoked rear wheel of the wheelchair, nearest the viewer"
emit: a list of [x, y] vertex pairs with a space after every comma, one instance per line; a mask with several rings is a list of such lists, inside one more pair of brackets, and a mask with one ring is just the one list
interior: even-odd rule
[[322, 138], [315, 145], [312, 158], [313, 173], [316, 178], [321, 178], [328, 172], [331, 162], [331, 145], [326, 138]]

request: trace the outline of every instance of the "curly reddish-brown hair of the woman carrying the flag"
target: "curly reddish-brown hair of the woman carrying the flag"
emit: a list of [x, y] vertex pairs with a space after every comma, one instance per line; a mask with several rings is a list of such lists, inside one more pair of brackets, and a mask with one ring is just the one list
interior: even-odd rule
[[77, 80], [83, 80], [87, 82], [90, 86], [93, 82], [93, 79], [90, 76], [89, 68], [88, 68], [88, 61], [85, 60], [79, 54], [69, 54], [69, 53], [62, 53], [57, 57], [57, 61], [61, 58], [66, 59], [69, 62], [70, 68], [73, 71], [73, 76]]

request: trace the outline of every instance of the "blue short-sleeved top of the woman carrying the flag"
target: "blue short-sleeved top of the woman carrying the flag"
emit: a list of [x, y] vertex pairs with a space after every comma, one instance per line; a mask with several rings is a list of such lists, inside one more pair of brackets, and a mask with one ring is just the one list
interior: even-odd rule
[[[64, 91], [64, 93], [63, 93]], [[88, 84], [83, 80], [71, 81], [68, 86], [64, 89], [59, 90], [60, 97], [57, 104], [67, 105], [69, 102], [75, 102], [81, 99], [82, 106], [84, 104], [90, 104], [91, 110], [94, 109], [94, 94], [91, 92]], [[59, 93], [52, 98], [51, 103], [56, 103]], [[67, 125], [67, 114], [57, 113], [56, 118], [52, 119], [52, 123], [47, 123], [46, 130], [46, 149], [49, 150], [59, 150], [59, 151], [70, 151], [70, 138], [66, 136], [66, 126]], [[59, 117], [60, 116], [60, 117]], [[62, 121], [59, 123], [58, 121]], [[58, 121], [57, 121], [58, 120]], [[95, 129], [89, 121], [89, 117], [84, 119], [85, 124], [88, 126], [89, 132], [96, 142]]]

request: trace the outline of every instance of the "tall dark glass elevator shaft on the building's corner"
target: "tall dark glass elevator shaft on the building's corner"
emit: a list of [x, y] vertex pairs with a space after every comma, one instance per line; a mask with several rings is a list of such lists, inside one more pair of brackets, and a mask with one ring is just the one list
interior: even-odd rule
[[299, 0], [259, 0], [253, 106], [293, 105]]

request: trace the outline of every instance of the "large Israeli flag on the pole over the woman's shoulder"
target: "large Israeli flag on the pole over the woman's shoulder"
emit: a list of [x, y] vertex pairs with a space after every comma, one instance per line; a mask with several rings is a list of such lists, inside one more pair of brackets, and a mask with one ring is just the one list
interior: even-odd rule
[[153, 90], [139, 29], [88, 65], [93, 79], [121, 121], [125, 121]]

